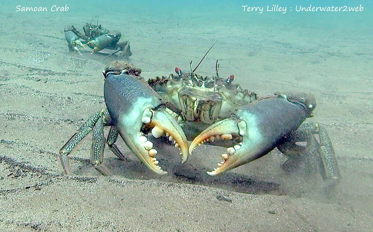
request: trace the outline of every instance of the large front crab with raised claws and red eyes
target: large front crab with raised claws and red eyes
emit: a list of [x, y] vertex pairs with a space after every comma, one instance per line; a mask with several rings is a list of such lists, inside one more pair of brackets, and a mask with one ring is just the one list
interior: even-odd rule
[[[104, 70], [107, 109], [92, 115], [60, 150], [65, 173], [68, 156], [93, 129], [91, 163], [103, 174], [104, 126], [109, 126], [108, 147], [125, 159], [115, 146], [118, 133], [131, 151], [150, 170], [165, 174], [156, 159], [157, 150], [146, 137], [168, 136], [179, 147], [183, 162], [200, 144], [227, 147], [222, 162], [210, 175], [217, 175], [269, 153], [275, 147], [290, 158], [317, 155], [325, 179], [339, 180], [335, 153], [326, 130], [317, 123], [303, 124], [316, 107], [312, 95], [277, 93], [265, 98], [232, 81], [202, 77], [175, 69], [176, 75], [145, 81], [140, 70], [125, 61], [113, 61]], [[315, 137], [317, 134], [317, 138]], [[192, 140], [188, 146], [188, 140]]]

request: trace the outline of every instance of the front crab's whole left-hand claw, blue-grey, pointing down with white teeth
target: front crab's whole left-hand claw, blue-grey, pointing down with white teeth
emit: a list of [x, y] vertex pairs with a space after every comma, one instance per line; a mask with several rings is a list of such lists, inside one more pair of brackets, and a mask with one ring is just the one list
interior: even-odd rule
[[175, 147], [180, 149], [183, 162], [188, 158], [188, 142], [177, 121], [169, 115], [160, 96], [139, 76], [124, 70], [116, 75], [105, 74], [104, 95], [107, 110], [119, 134], [131, 151], [150, 170], [166, 174], [155, 157], [158, 151], [145, 137], [151, 133], [159, 138], [169, 136]]

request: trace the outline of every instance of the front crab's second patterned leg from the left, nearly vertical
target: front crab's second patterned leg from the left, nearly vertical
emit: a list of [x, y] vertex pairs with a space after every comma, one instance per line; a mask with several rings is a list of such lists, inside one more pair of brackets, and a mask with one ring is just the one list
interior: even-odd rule
[[100, 117], [93, 128], [92, 147], [91, 147], [91, 163], [103, 175], [110, 175], [110, 171], [103, 164], [104, 149], [105, 149], [105, 136], [104, 136], [104, 122]]

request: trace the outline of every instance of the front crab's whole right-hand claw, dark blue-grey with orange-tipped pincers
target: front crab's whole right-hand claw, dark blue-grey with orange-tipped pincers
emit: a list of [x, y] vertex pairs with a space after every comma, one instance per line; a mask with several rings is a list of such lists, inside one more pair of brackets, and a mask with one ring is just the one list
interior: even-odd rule
[[238, 142], [221, 155], [223, 161], [212, 172], [208, 172], [212, 176], [266, 155], [310, 117], [316, 105], [313, 96], [306, 100], [295, 98], [296, 95], [289, 96], [282, 94], [240, 108], [231, 118], [202, 131], [190, 144], [189, 152], [215, 138]]

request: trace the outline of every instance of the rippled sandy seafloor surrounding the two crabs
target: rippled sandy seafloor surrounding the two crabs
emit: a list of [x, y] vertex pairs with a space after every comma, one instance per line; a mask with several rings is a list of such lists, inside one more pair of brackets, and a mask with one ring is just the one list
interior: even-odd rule
[[[17, 2], [0, 2], [1, 232], [373, 230], [371, 8], [259, 16], [240, 2], [66, 3], [66, 13], [17, 13]], [[285, 173], [277, 150], [210, 177], [224, 149], [205, 145], [181, 165], [177, 149], [157, 144], [169, 172], [160, 177], [122, 141], [131, 161], [107, 149], [113, 175], [104, 177], [89, 164], [90, 136], [72, 153], [75, 175], [62, 176], [59, 148], [105, 106], [104, 56], [69, 52], [62, 29], [97, 17], [130, 40], [130, 61], [145, 78], [187, 71], [216, 42], [199, 74], [213, 75], [218, 59], [220, 76], [234, 74], [260, 96], [313, 93], [318, 106], [307, 121], [327, 127], [340, 184], [325, 192], [318, 170]]]

